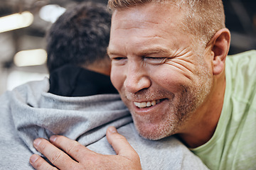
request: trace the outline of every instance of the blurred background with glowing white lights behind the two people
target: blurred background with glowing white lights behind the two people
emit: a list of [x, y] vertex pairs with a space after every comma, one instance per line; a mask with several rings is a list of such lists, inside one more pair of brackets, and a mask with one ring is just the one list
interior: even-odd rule
[[[65, 8], [82, 0], [0, 0], [0, 95], [48, 76], [45, 33]], [[107, 4], [107, 0], [92, 0]], [[223, 0], [230, 55], [256, 49], [256, 1]]]

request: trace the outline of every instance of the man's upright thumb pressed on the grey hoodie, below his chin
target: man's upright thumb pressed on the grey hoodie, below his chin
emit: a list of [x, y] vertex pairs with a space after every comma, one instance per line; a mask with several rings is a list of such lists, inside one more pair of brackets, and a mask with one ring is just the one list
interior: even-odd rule
[[113, 126], [107, 128], [107, 141], [112, 145], [117, 155], [127, 157], [128, 159], [134, 159], [139, 157], [137, 152], [129, 145], [127, 139], [117, 132], [117, 129]]

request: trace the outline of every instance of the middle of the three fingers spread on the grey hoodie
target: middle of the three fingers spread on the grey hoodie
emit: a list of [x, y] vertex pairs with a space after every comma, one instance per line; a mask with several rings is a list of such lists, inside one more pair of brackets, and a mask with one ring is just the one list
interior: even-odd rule
[[[65, 154], [65, 152], [58, 149], [58, 147], [55, 147], [53, 144], [48, 142], [48, 140], [38, 138], [34, 140], [33, 146], [38, 150], [38, 152], [41, 152], [46, 156], [53, 165], [58, 167], [58, 169], [73, 169], [73, 167], [78, 166], [78, 162], [75, 162], [68, 156], [68, 154]], [[65, 163], [65, 166], [63, 166], [63, 163]]]

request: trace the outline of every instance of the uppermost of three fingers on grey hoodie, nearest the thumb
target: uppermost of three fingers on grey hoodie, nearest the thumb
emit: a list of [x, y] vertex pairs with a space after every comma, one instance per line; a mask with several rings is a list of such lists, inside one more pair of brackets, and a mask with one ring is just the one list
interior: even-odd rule
[[70, 140], [65, 136], [53, 135], [50, 137], [50, 142], [56, 147], [62, 149], [78, 162], [84, 161], [85, 157], [90, 157], [90, 154], [95, 154], [95, 152], [87, 149], [87, 147], [81, 145], [79, 142]]

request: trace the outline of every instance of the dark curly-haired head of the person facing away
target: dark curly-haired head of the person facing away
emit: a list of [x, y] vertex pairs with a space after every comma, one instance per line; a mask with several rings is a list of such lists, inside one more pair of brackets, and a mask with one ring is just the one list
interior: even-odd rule
[[104, 4], [85, 2], [68, 8], [47, 34], [48, 71], [65, 64], [110, 69], [110, 24], [111, 14]]

